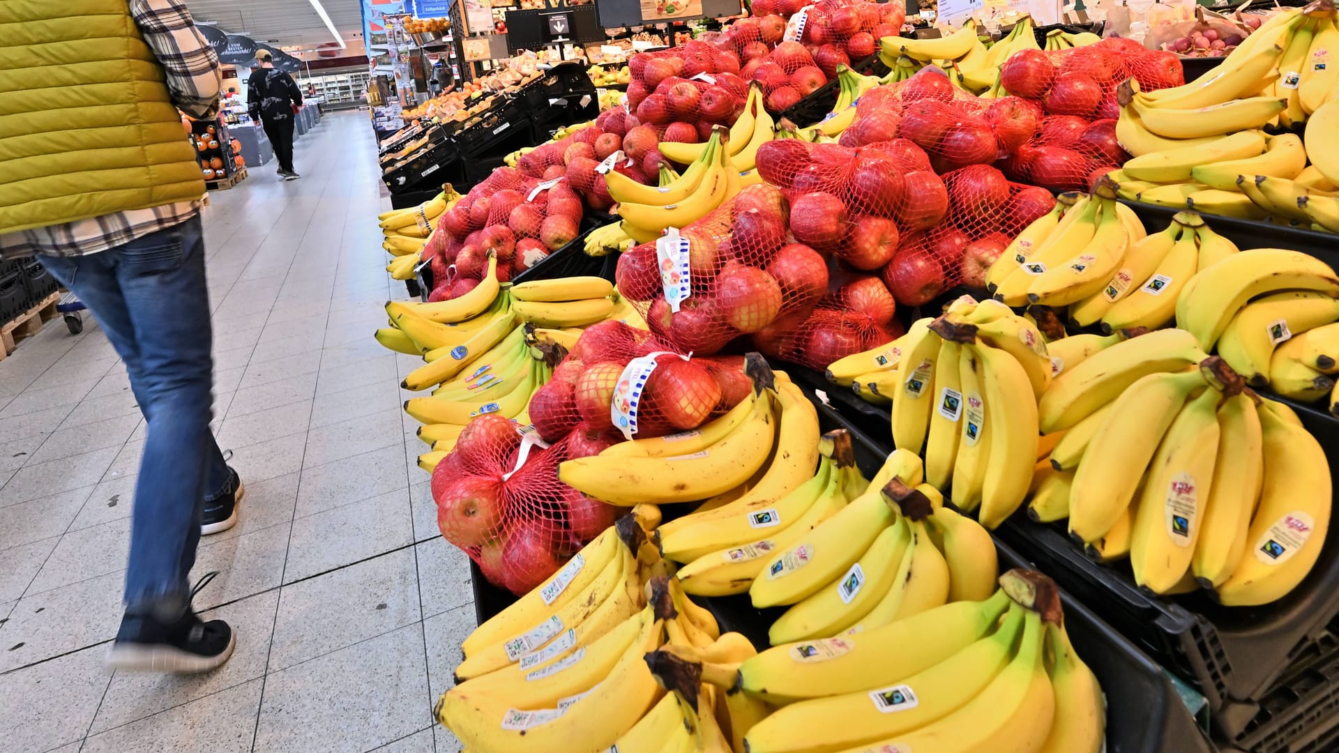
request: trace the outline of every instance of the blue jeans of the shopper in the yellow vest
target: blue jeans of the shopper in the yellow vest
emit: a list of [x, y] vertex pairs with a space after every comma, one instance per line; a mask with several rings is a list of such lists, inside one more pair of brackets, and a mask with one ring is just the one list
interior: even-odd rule
[[189, 604], [201, 508], [226, 492], [228, 465], [209, 430], [210, 354], [200, 217], [125, 245], [42, 264], [88, 307], [121, 355], [149, 422], [135, 505], [126, 611], [171, 619]]

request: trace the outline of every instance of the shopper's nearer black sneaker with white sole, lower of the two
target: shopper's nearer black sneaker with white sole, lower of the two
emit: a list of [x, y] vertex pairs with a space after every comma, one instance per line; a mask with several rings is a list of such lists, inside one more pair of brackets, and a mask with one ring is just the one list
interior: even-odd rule
[[[191, 590], [191, 598], [209, 584], [217, 572], [209, 572]], [[205, 673], [233, 655], [237, 636], [221, 619], [202, 622], [195, 612], [173, 622], [153, 615], [126, 615], [121, 619], [116, 640], [107, 651], [107, 669], [125, 671]]]

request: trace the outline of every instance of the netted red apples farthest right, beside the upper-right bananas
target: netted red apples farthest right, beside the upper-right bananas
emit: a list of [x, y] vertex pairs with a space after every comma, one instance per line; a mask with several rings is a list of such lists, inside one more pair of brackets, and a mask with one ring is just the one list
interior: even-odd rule
[[1107, 38], [1069, 50], [1020, 50], [1000, 66], [1000, 87], [1038, 102], [1047, 115], [1118, 118], [1115, 90], [1126, 79], [1142, 91], [1185, 83], [1181, 62], [1133, 39]]

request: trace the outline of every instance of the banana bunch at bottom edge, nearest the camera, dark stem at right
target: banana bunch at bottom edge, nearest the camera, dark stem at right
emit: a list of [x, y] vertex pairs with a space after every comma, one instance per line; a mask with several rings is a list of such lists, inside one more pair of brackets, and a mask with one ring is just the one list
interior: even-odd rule
[[976, 599], [703, 677], [736, 678], [742, 695], [779, 706], [744, 736], [750, 753], [1102, 750], [1102, 689], [1065, 630], [1055, 584], [1010, 571], [996, 590], [995, 576]]

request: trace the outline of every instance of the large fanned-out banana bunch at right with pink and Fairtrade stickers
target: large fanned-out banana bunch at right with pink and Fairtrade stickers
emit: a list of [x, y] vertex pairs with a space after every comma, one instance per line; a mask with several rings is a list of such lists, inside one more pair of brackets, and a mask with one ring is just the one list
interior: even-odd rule
[[[1181, 300], [1196, 315], [1178, 322], [1216, 327], [1204, 324], [1217, 318], [1204, 305], [1223, 307], [1231, 322], [1249, 283], [1233, 288], [1227, 272], [1251, 255], [1192, 279]], [[1328, 465], [1289, 409], [1245, 390], [1193, 332], [1126, 336], [1066, 364], [1039, 403], [1042, 431], [1060, 435], [1051, 468], [1034, 469], [1028, 515], [1069, 519], [1095, 557], [1129, 557], [1135, 581], [1157, 594], [1204, 587], [1228, 606], [1268, 603], [1315, 563], [1330, 517]]]

